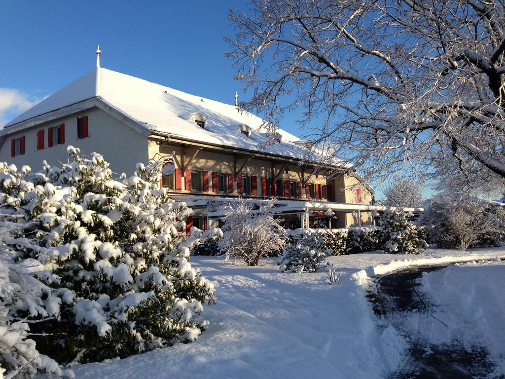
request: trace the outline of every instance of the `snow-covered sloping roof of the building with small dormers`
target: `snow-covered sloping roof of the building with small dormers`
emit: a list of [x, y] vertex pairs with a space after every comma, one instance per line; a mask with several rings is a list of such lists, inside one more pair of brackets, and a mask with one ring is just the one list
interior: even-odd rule
[[[239, 111], [234, 105], [193, 96], [101, 67], [93, 68], [16, 117], [0, 134], [29, 127], [34, 119], [42, 115], [89, 99], [107, 103], [148, 131], [168, 133], [200, 143], [258, 151], [259, 145], [270, 139], [261, 127], [264, 121], [260, 117]], [[61, 111], [58, 113], [61, 114]], [[194, 113], [207, 117], [205, 129], [192, 120]], [[239, 125], [243, 124], [251, 128], [249, 137], [239, 130]], [[282, 142], [267, 146], [264, 152], [302, 158], [304, 152], [296, 146], [300, 139], [282, 129], [278, 132], [282, 135]]]

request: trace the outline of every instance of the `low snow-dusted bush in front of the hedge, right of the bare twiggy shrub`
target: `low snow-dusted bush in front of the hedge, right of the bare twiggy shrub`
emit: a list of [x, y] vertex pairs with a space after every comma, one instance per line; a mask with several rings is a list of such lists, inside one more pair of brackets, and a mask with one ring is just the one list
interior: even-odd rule
[[333, 251], [325, 248], [322, 229], [296, 229], [289, 235], [289, 246], [279, 258], [279, 270], [315, 272], [323, 267], [326, 257]]

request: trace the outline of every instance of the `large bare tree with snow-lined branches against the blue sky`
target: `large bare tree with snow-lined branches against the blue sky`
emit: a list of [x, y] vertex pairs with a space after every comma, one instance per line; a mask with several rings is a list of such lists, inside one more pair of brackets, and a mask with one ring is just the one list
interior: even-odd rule
[[367, 179], [503, 185], [503, 0], [252, 0], [230, 18], [241, 107], [267, 128], [302, 107], [305, 147]]

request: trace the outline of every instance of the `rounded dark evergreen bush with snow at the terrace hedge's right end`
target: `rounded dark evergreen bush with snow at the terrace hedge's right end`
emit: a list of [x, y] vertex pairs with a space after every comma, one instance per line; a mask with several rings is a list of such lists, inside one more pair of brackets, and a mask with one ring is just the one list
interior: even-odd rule
[[384, 251], [390, 254], [419, 254], [426, 249], [426, 241], [420, 240], [413, 214], [402, 211], [386, 211], [380, 219], [384, 237]]

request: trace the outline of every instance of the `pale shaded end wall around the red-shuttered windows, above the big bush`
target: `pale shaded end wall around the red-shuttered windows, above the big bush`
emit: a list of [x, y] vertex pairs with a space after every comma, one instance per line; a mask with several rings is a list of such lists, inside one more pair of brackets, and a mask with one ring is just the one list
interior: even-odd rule
[[[77, 138], [77, 118], [88, 116], [89, 137]], [[65, 144], [47, 146], [47, 129], [65, 123]], [[44, 149], [37, 150], [37, 131], [44, 129]], [[25, 154], [11, 157], [11, 140], [25, 136]], [[0, 161], [14, 163], [18, 168], [29, 165], [33, 171], [42, 167], [42, 160], [49, 164], [67, 162], [67, 146], [74, 146], [84, 155], [97, 152], [110, 163], [115, 173], [131, 175], [137, 162], [147, 163], [147, 137], [133, 130], [108, 113], [92, 108], [83, 112], [44, 122], [28, 129], [7, 135], [0, 147]]]

